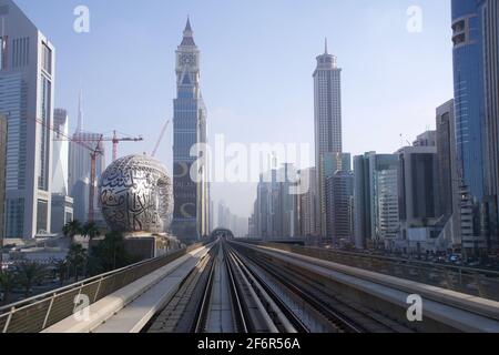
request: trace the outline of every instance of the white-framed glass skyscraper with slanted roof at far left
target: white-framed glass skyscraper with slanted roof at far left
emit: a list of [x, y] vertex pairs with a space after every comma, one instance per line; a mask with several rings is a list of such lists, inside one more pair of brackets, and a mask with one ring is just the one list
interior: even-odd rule
[[55, 51], [11, 0], [0, 0], [0, 114], [9, 133], [6, 236], [50, 231]]

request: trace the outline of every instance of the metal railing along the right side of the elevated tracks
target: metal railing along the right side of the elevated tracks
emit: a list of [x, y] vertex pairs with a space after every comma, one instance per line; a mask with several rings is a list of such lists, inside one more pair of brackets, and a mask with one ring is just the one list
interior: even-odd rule
[[499, 272], [275, 243], [252, 243], [499, 301]]

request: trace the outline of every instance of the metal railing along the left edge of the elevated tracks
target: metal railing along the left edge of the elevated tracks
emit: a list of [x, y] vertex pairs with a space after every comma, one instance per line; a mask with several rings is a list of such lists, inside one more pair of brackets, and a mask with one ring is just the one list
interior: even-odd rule
[[39, 333], [74, 314], [79, 295], [93, 304], [212, 241], [0, 307], [0, 333]]

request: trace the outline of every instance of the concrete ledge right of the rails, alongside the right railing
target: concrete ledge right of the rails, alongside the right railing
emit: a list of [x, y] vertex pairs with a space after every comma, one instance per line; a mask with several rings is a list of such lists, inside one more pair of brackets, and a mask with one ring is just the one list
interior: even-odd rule
[[[234, 243], [246, 251], [266, 255], [267, 261], [281, 266], [304, 270], [330, 282], [336, 292], [348, 295], [357, 302], [377, 307], [380, 314], [406, 316], [409, 305], [407, 297], [413, 294], [424, 298], [425, 322], [414, 323], [425, 332], [460, 331], [499, 333], [499, 303], [476, 296], [460, 294], [413, 281], [381, 275], [352, 266], [298, 255], [272, 247]], [[406, 321], [407, 322], [407, 321]]]

